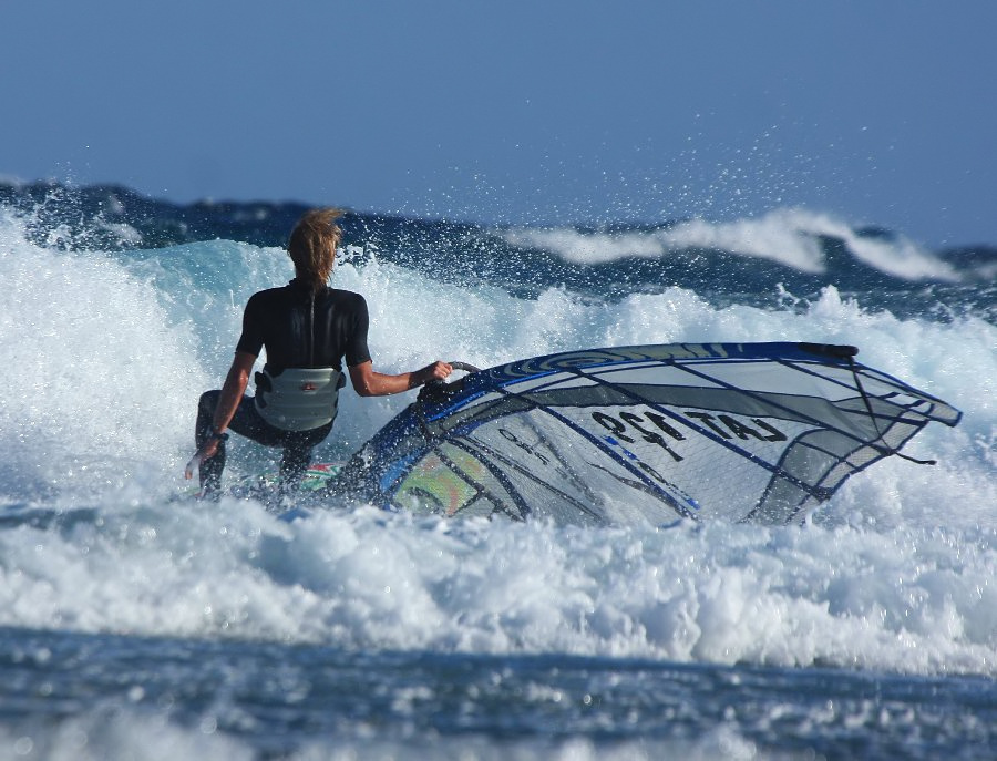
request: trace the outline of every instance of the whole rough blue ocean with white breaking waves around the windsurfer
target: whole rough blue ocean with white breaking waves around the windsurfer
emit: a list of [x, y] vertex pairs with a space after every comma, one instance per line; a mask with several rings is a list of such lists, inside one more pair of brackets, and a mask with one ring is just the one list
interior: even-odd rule
[[[350, 213], [377, 369], [851, 343], [964, 418], [801, 525], [286, 522], [183, 469], [304, 208], [0, 185], [0, 760], [997, 758], [997, 247]], [[318, 457], [413, 397], [346, 390]]]

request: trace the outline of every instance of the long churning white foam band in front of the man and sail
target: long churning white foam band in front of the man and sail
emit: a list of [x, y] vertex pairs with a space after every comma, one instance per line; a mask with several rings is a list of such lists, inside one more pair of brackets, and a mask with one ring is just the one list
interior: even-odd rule
[[0, 533], [0, 624], [719, 664], [995, 671], [994, 531], [281, 524], [253, 504]]

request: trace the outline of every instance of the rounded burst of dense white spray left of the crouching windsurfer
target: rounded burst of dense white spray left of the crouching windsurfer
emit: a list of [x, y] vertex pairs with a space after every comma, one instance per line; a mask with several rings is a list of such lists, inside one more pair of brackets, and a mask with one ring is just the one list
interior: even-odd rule
[[191, 326], [172, 323], [158, 291], [107, 256], [3, 233], [3, 485], [121, 484], [189, 430], [175, 410], [203, 382]]

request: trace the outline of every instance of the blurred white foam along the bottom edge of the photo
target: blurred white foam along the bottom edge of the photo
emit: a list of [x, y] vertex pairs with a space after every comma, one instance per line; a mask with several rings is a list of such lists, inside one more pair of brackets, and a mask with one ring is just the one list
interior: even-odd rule
[[[49, 718], [48, 721], [8, 722], [0, 727], [0, 761], [50, 759], [51, 761], [172, 761], [173, 759], [224, 759], [250, 761], [274, 755], [260, 749], [259, 740], [223, 731], [217, 712], [229, 721], [241, 718], [239, 728], [255, 727], [258, 720], [245, 709], [229, 705], [225, 697], [205, 709], [197, 723], [185, 724], [169, 716], [130, 706], [104, 706], [80, 716]], [[13, 724], [11, 727], [11, 724]], [[397, 732], [380, 722], [351, 718], [335, 731], [312, 732], [280, 758], [294, 761], [357, 761], [357, 759], [410, 759], [425, 761], [656, 761], [681, 757], [688, 761], [750, 761], [758, 758], [756, 742], [734, 726], [720, 724], [695, 738], [599, 738], [569, 734], [537, 739], [496, 739], [489, 732]], [[288, 738], [282, 738], [288, 740]]]

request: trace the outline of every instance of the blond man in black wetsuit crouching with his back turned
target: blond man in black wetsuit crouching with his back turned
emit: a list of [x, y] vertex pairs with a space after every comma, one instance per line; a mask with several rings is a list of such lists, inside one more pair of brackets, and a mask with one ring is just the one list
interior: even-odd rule
[[[282, 446], [281, 485], [294, 490], [308, 470], [312, 448], [332, 430], [339, 389], [346, 382], [343, 358], [361, 397], [400, 393], [452, 372], [441, 361], [397, 376], [373, 370], [367, 348], [367, 301], [359, 294], [327, 285], [342, 237], [335, 223], [340, 215], [326, 208], [301, 217], [287, 245], [295, 279], [250, 297], [225, 384], [201, 397], [197, 452], [185, 475], [192, 477], [199, 465], [203, 497], [219, 494], [228, 429], [267, 446]], [[267, 362], [256, 373], [256, 397], [246, 397], [261, 348], [267, 350]]]

